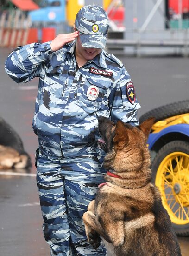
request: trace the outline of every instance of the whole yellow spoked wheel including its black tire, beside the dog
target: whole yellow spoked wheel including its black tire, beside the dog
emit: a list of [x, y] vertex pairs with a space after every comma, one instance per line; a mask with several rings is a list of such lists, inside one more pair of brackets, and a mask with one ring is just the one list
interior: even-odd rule
[[152, 171], [176, 233], [189, 234], [189, 143], [166, 144], [157, 153]]

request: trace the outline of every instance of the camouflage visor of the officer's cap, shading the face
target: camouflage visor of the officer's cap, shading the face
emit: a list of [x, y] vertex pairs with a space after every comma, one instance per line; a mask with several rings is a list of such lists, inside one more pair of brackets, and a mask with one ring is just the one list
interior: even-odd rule
[[107, 37], [105, 35], [89, 35], [80, 32], [80, 40], [84, 48], [104, 49]]

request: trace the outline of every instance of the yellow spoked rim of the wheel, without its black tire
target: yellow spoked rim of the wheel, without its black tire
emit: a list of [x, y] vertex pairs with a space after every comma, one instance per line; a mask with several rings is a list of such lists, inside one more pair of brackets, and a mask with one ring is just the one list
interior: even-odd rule
[[[189, 155], [173, 152], [160, 163], [155, 180], [171, 222], [189, 223]], [[177, 189], [176, 189], [177, 188]]]

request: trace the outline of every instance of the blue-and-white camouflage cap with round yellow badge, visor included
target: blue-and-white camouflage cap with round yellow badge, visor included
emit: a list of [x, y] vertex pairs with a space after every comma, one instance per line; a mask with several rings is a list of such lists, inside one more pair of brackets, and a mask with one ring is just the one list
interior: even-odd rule
[[102, 7], [82, 7], [76, 15], [75, 26], [80, 32], [82, 47], [105, 48], [109, 25], [107, 13]]

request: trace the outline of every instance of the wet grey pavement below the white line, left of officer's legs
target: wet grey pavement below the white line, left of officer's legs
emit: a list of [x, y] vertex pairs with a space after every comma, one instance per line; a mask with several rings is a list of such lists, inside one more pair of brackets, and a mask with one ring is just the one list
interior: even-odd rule
[[34, 177], [0, 176], [0, 255], [50, 256]]

